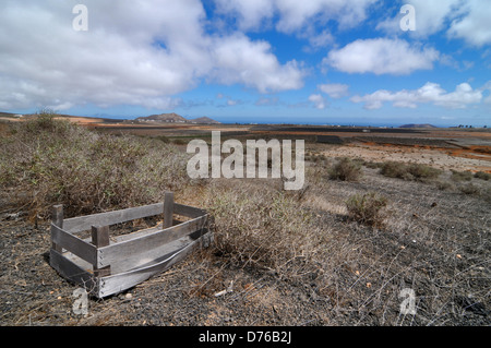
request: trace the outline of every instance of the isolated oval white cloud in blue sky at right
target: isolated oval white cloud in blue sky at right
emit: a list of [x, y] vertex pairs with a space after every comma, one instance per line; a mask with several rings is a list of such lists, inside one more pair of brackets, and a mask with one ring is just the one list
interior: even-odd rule
[[410, 46], [402, 39], [359, 39], [330, 51], [323, 63], [348, 73], [406, 75], [430, 70], [440, 53], [433, 48]]

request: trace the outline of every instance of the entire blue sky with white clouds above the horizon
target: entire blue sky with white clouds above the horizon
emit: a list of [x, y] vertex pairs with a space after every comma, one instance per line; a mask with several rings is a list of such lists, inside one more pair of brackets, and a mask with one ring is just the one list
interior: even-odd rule
[[0, 110], [490, 125], [490, 17], [491, 0], [4, 0]]

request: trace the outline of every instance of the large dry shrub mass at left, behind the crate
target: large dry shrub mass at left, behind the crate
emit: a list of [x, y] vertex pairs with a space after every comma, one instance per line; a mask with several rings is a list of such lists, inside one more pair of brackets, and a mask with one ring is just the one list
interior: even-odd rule
[[52, 204], [69, 215], [148, 204], [190, 180], [187, 156], [171, 145], [95, 133], [50, 113], [15, 124], [0, 145], [0, 184], [31, 193], [26, 203], [40, 216]]

